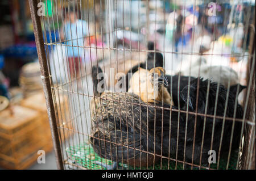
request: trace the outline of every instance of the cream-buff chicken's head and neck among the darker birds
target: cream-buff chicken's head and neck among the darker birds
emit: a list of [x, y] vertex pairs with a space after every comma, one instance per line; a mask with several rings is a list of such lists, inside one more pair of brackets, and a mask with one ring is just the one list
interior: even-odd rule
[[166, 88], [168, 87], [166, 71], [162, 67], [152, 68], [150, 71], [139, 68], [131, 77], [129, 85], [128, 92], [139, 95], [143, 102], [154, 103], [155, 100], [158, 100], [166, 104], [173, 104], [171, 95]]

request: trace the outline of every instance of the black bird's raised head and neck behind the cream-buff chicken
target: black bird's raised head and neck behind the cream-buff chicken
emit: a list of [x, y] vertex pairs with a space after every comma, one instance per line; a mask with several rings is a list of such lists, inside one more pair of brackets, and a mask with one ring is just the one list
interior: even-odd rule
[[[149, 41], [147, 44], [147, 49], [148, 50], [154, 50], [155, 49], [155, 44], [152, 41]], [[151, 70], [156, 67], [163, 67], [163, 55], [162, 53], [159, 52], [148, 52], [147, 53], [147, 62], [143, 62], [141, 64], [133, 66], [128, 73], [125, 75], [125, 80], [126, 80], [126, 91], [129, 90], [129, 82], [130, 78], [133, 76], [135, 72], [139, 70], [139, 68]], [[131, 76], [129, 76], [131, 74]]]

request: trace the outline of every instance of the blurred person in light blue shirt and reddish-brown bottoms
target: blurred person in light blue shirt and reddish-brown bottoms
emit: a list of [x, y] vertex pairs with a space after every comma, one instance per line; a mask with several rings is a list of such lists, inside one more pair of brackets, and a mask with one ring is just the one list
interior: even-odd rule
[[88, 23], [79, 19], [79, 11], [73, 7], [65, 10], [61, 40], [65, 40], [68, 53], [68, 67], [71, 79], [80, 75], [82, 57], [84, 57], [84, 37], [87, 35]]

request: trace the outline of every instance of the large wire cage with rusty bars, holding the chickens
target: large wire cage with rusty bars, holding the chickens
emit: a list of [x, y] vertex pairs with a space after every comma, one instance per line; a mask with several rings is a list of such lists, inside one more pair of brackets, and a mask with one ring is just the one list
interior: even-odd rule
[[59, 168], [255, 168], [255, 2], [30, 8]]

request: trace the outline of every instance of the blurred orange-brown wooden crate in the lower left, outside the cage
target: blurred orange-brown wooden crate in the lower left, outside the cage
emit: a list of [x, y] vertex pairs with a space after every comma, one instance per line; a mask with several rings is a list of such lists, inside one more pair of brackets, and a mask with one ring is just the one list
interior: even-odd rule
[[40, 112], [14, 106], [0, 112], [0, 166], [26, 169], [38, 158], [38, 150], [52, 149], [51, 134]]

